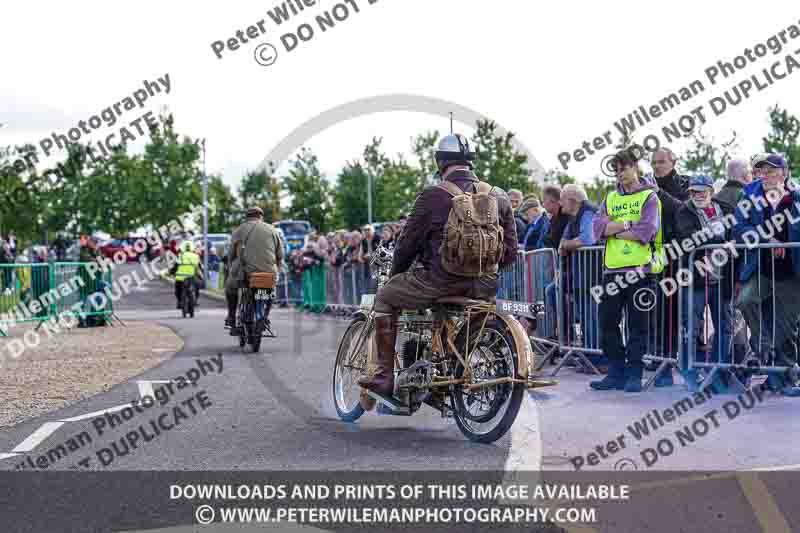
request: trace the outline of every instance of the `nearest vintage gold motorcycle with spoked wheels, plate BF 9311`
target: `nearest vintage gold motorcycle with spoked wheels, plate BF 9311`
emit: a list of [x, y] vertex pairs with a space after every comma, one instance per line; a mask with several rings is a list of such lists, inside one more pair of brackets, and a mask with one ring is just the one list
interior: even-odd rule
[[[379, 288], [391, 267], [392, 251], [379, 247], [370, 261]], [[446, 297], [400, 315], [398, 339], [406, 340], [395, 356], [393, 397], [362, 389], [358, 377], [377, 352], [373, 303], [374, 295], [365, 296], [336, 355], [333, 400], [346, 422], [376, 403], [379, 414], [405, 416], [426, 404], [454, 418], [471, 441], [490, 443], [511, 428], [526, 389], [555, 384], [534, 379], [530, 340], [516, 318], [491, 302]]]

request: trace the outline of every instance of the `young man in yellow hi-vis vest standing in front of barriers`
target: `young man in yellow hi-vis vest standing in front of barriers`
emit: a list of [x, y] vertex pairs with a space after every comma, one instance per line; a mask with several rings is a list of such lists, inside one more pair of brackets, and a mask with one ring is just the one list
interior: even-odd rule
[[[643, 179], [630, 151], [613, 159], [617, 190], [594, 218], [597, 240], [606, 240], [603, 286], [600, 292], [600, 348], [609, 359], [608, 375], [593, 381], [595, 390], [642, 390], [644, 355], [650, 312], [657, 302], [654, 275], [664, 269], [661, 202], [651, 182]], [[627, 346], [619, 324], [627, 317]]]

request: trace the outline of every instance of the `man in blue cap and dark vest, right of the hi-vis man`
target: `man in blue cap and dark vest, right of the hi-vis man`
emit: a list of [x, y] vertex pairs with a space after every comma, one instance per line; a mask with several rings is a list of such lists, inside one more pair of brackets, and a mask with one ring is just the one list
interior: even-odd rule
[[[698, 175], [689, 181], [689, 201], [678, 211], [675, 234], [680, 242], [693, 239], [696, 235], [708, 238], [705, 244], [723, 244], [731, 240], [732, 228], [725, 224], [725, 217], [733, 213], [733, 205], [721, 202], [712, 197], [714, 181], [710, 176]], [[695, 339], [699, 336], [703, 323], [706, 305], [711, 309], [711, 321], [714, 323], [715, 339], [710, 343], [708, 353], [697, 353], [696, 361], [731, 363], [732, 313], [733, 297], [733, 257], [727, 249], [713, 252], [698, 251], [694, 256], [694, 265], [702, 261], [710, 268], [698, 269], [688, 264], [689, 254], [683, 256], [683, 267], [692, 272], [693, 285], [689, 289], [692, 294], [692, 305], [689, 308], [688, 297], [684, 298], [683, 327], [688, 328], [689, 313], [693, 313], [693, 331], [685, 329], [685, 338], [689, 341], [688, 351], [695, 352]], [[722, 255], [724, 254], [724, 255]], [[706, 261], [705, 258], [708, 257]], [[723, 260], [723, 258], [726, 258]], [[688, 295], [688, 292], [687, 292]], [[688, 368], [686, 361], [683, 368]], [[672, 381], [671, 374], [669, 381]], [[697, 384], [697, 375], [690, 375], [688, 380]]]

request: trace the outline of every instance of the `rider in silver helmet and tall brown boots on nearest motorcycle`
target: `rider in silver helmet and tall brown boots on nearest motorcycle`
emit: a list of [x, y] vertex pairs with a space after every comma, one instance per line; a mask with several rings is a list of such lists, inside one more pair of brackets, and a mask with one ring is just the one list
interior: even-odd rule
[[[472, 172], [475, 154], [470, 151], [467, 139], [460, 134], [442, 138], [435, 153], [437, 176], [441, 182], [429, 186], [417, 196], [414, 209], [399, 241], [395, 245], [394, 262], [389, 281], [375, 296], [375, 329], [377, 361], [373, 375], [365, 374], [358, 383], [383, 396], [394, 392], [394, 359], [397, 339], [397, 316], [403, 309], [426, 309], [445, 296], [463, 296], [493, 300], [497, 293], [496, 266], [503, 267], [514, 261], [517, 251], [517, 230], [511, 202], [506, 193], [497, 187], [482, 183]], [[480, 189], [479, 189], [480, 187]], [[453, 198], [460, 192], [488, 191], [496, 200], [498, 225], [502, 228], [499, 261], [484, 265], [478, 277], [453, 273], [443, 260], [446, 249], [445, 233]], [[408, 271], [415, 259], [420, 266]]]

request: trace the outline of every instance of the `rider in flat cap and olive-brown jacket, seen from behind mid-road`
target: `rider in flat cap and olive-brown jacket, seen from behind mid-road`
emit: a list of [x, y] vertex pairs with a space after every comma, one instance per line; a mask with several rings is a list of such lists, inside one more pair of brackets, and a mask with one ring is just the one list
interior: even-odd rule
[[283, 262], [283, 245], [278, 231], [264, 222], [260, 207], [247, 210], [244, 223], [231, 235], [228, 257], [229, 276], [225, 279], [225, 299], [228, 316], [225, 325], [236, 323], [236, 307], [239, 304], [239, 289], [244, 287], [246, 274], [253, 272], [275, 272]]

